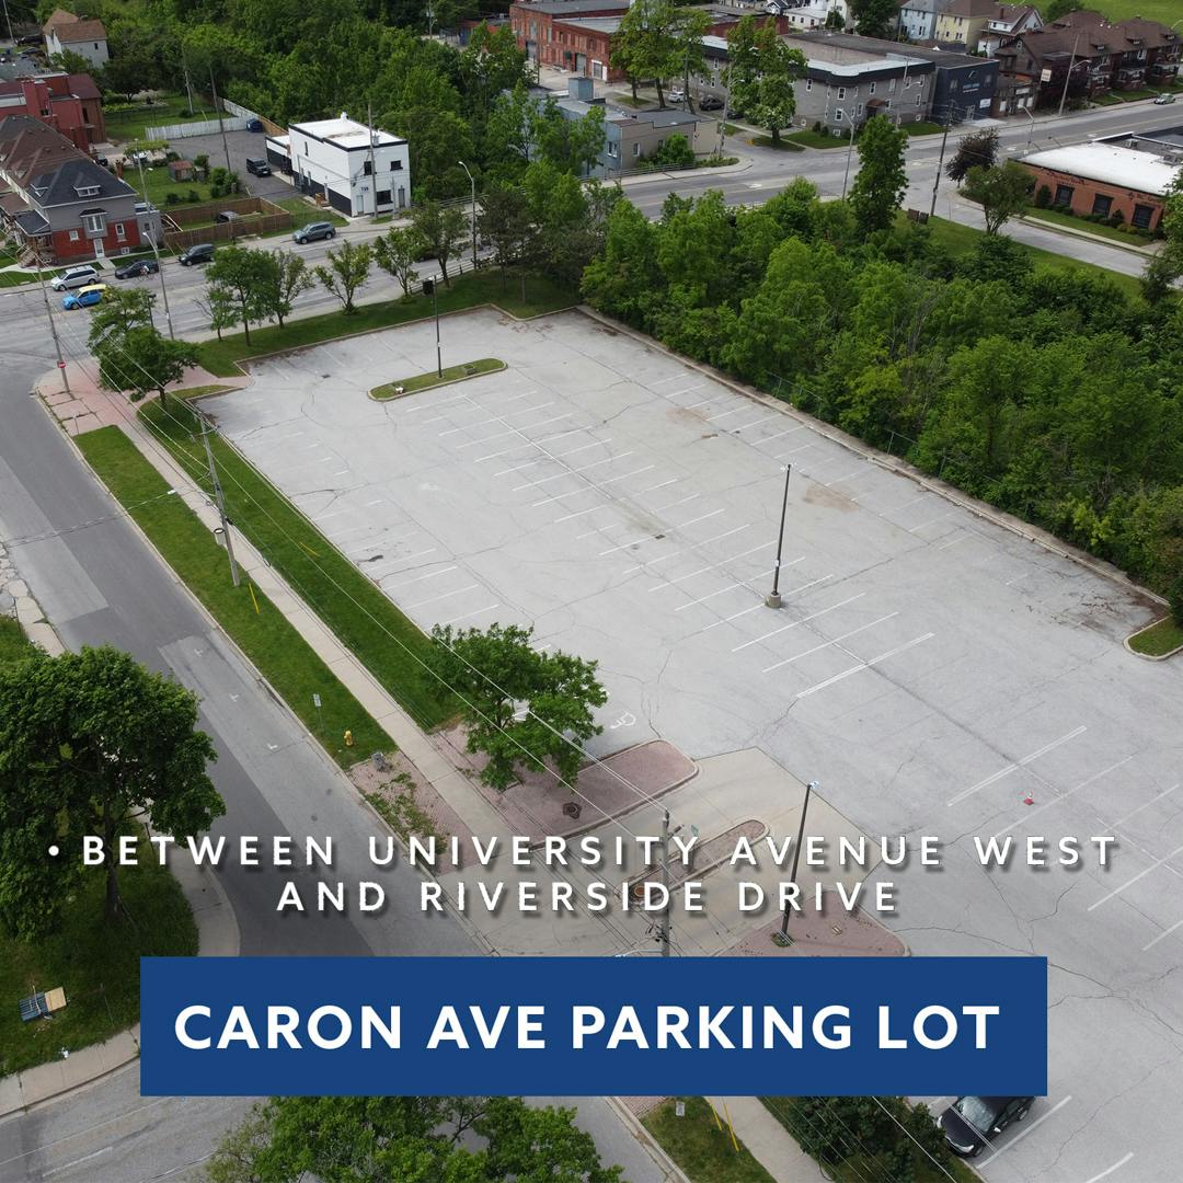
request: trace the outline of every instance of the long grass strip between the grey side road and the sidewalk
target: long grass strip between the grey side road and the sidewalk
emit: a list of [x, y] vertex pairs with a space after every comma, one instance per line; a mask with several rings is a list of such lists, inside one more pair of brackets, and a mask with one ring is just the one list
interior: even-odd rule
[[[181, 413], [192, 414], [183, 408]], [[78, 437], [78, 446], [173, 570], [338, 764], [348, 767], [371, 751], [394, 749], [390, 737], [274, 605], [261, 592], [253, 590], [247, 580], [238, 588], [231, 583], [225, 550], [180, 497], [164, 496], [168, 492], [164, 478], [123, 432], [117, 427], [88, 432]], [[185, 446], [193, 448], [187, 438]], [[222, 480], [230, 493], [228, 474]], [[233, 498], [227, 497], [227, 502], [233, 504]], [[237, 510], [231, 516], [241, 521]], [[322, 712], [313, 705], [313, 693], [321, 696]], [[323, 729], [319, 713], [324, 716]], [[347, 728], [354, 733], [354, 748], [344, 745]]]

